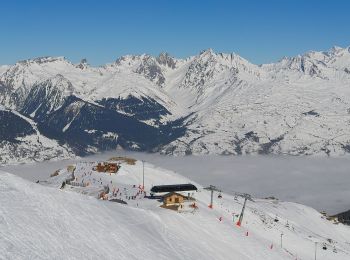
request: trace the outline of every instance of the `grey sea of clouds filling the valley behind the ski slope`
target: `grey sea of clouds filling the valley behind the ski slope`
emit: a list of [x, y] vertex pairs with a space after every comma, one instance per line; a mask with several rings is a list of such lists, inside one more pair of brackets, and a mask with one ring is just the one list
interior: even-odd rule
[[[84, 161], [129, 156], [173, 170], [223, 192], [246, 192], [259, 198], [274, 196], [335, 214], [350, 209], [350, 158], [295, 156], [185, 156], [108, 152]], [[78, 159], [79, 160], [79, 159]], [[25, 179], [45, 180], [55, 170], [77, 160], [2, 167]], [[147, 172], [145, 173], [147, 178]]]

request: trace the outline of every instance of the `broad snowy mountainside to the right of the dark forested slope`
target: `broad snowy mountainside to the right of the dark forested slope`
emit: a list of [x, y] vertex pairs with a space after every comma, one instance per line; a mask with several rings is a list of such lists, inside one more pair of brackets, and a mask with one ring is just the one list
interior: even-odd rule
[[[227, 60], [212, 56], [220, 65]], [[236, 62], [228, 66], [234, 72], [227, 68], [203, 81], [186, 135], [168, 147], [179, 153], [348, 152], [349, 61], [349, 49], [337, 49], [260, 67]]]

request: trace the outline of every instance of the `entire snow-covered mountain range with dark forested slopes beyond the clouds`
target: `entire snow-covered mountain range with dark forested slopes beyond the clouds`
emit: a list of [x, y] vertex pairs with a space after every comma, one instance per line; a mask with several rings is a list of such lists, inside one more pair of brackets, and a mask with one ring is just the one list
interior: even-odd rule
[[350, 151], [350, 48], [259, 66], [211, 49], [187, 59], [126, 55], [101, 67], [36, 58], [1, 67], [0, 103], [77, 154], [120, 146], [342, 155]]

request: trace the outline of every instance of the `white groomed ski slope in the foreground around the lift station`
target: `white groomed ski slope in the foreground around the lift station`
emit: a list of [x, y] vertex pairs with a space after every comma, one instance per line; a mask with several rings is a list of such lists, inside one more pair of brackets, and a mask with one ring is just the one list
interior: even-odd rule
[[[0, 172], [0, 259], [311, 260], [315, 250], [316, 259], [350, 259], [350, 228], [310, 207], [253, 198], [237, 226], [242, 197], [214, 193], [211, 209], [198, 183], [147, 162], [119, 163], [107, 173], [79, 162], [40, 183]], [[153, 185], [179, 183], [196, 185], [197, 208], [178, 212], [149, 198]]]

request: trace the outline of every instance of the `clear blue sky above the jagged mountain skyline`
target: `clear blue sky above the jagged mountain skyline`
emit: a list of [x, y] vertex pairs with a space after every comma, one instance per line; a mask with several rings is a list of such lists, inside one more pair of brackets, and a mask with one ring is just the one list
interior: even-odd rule
[[268, 63], [349, 46], [349, 11], [346, 0], [2, 1], [0, 64], [49, 55], [100, 65], [207, 48]]

